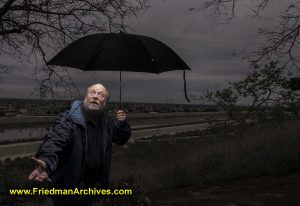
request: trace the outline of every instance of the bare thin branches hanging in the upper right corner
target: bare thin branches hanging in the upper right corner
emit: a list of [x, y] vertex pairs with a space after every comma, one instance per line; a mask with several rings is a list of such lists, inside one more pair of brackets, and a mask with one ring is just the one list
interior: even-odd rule
[[[263, 11], [274, 2], [275, 0], [206, 0], [199, 8], [190, 10], [209, 10], [214, 15], [224, 16], [223, 23], [228, 24], [238, 19], [239, 4], [246, 4], [251, 18], [261, 18]], [[258, 32], [265, 41], [257, 51], [252, 52], [254, 55], [250, 55], [250, 61], [262, 65], [267, 61], [278, 61], [288, 72], [299, 75], [300, 1], [286, 1], [286, 8], [278, 17], [279, 21], [273, 28], [259, 29]]]

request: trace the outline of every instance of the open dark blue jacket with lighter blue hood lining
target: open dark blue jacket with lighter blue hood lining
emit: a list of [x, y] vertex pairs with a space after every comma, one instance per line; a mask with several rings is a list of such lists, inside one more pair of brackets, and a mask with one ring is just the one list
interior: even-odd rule
[[[47, 164], [48, 173], [58, 188], [84, 188], [87, 168], [87, 133], [80, 105], [74, 101], [47, 133], [35, 157]], [[103, 112], [102, 124], [102, 170], [99, 181], [108, 187], [112, 143], [122, 145], [130, 138], [131, 128], [127, 122], [118, 124], [116, 117]]]

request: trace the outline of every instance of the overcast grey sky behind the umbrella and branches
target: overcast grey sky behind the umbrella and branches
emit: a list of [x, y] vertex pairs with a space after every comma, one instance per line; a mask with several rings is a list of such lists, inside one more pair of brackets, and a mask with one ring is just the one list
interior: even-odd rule
[[[267, 18], [250, 19], [246, 2], [238, 4], [238, 19], [223, 25], [220, 17], [205, 11], [189, 11], [200, 6], [199, 0], [152, 0], [150, 8], [138, 19], [128, 19], [129, 33], [156, 38], [172, 48], [190, 66], [186, 73], [187, 89], [191, 94], [216, 89], [227, 81], [238, 79], [248, 70], [248, 62], [235, 51], [255, 50], [260, 43], [259, 27], [273, 25], [270, 19], [284, 9], [284, 2], [275, 1], [263, 13]], [[34, 69], [19, 65], [15, 60], [0, 58], [14, 67], [0, 81], [0, 97], [32, 98]], [[112, 101], [119, 97], [118, 72], [82, 72], [70, 69], [76, 85], [83, 93], [92, 82], [102, 82], [110, 90]], [[123, 73], [123, 101], [185, 103], [182, 71], [159, 75]], [[194, 102], [196, 103], [196, 102]]]

